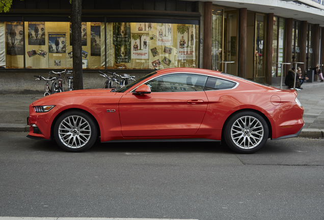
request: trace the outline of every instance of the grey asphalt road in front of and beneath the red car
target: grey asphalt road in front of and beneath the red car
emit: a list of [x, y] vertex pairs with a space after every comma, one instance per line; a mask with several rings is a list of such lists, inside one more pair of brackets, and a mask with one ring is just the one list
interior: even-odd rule
[[0, 132], [0, 216], [324, 219], [324, 140], [100, 144], [66, 153]]

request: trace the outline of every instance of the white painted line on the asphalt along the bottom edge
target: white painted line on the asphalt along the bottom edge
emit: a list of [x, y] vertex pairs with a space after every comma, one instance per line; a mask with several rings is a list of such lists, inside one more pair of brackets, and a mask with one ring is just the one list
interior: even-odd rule
[[0, 217], [0, 220], [198, 220], [183, 218]]

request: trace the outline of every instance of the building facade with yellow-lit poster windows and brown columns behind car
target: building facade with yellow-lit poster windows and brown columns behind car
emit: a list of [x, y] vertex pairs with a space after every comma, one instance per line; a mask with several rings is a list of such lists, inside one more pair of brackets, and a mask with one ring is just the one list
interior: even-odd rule
[[[98, 70], [141, 76], [154, 68], [194, 67], [271, 85], [298, 62], [306, 74], [324, 63], [323, 5], [84, 0], [84, 87], [103, 85]], [[73, 69], [70, 8], [68, 0], [13, 0], [0, 14], [0, 91], [42, 90], [35, 73]]]

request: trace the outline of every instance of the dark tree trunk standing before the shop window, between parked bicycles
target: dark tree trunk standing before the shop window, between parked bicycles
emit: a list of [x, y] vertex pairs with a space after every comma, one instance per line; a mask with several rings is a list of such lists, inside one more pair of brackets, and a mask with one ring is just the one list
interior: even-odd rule
[[73, 54], [73, 89], [83, 89], [82, 72], [82, 0], [72, 0], [71, 2], [71, 29], [72, 29], [72, 54]]

